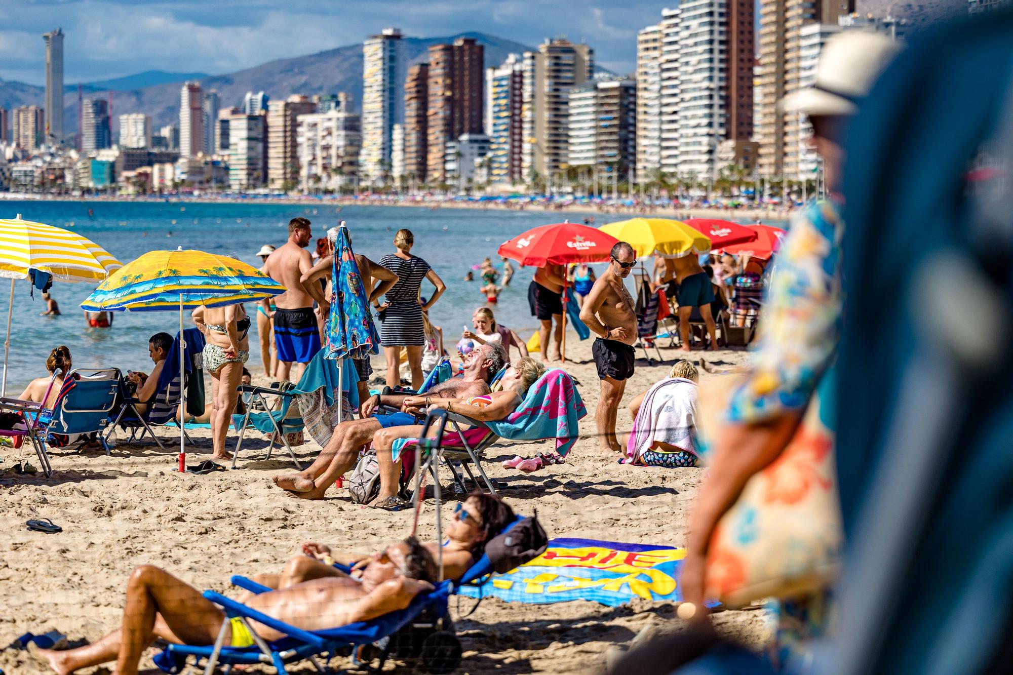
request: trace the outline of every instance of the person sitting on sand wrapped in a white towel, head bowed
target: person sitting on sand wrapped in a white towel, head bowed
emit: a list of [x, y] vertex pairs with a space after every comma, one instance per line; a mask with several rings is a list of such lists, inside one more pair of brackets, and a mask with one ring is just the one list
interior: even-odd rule
[[630, 401], [633, 429], [620, 443], [620, 461], [640, 466], [696, 466], [696, 399], [698, 374], [689, 361], [672, 367], [669, 377]]

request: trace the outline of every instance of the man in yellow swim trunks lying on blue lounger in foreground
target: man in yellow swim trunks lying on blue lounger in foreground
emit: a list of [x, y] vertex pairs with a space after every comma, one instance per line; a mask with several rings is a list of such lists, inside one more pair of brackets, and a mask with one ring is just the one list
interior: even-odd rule
[[[412, 598], [433, 588], [433, 555], [414, 537], [388, 546], [363, 568], [362, 579], [345, 576], [314, 579], [248, 599], [247, 605], [305, 630], [322, 630], [366, 621], [404, 609]], [[249, 630], [227, 619], [218, 605], [196, 588], [150, 565], [134, 570], [127, 582], [123, 627], [97, 643], [75, 650], [33, 650], [54, 671], [68, 675], [81, 668], [115, 660], [116, 675], [134, 675], [138, 662], [156, 638], [177, 645], [213, 645], [222, 623], [231, 623], [227, 645], [249, 647]], [[250, 620], [267, 642], [284, 634]]]

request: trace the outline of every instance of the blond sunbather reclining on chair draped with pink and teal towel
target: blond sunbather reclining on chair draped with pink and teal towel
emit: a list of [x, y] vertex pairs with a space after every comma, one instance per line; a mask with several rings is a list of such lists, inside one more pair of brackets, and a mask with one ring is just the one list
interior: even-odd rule
[[[441, 395], [408, 396], [401, 405], [406, 411], [417, 411], [421, 407], [442, 408], [457, 413], [478, 422], [505, 420], [524, 400], [528, 388], [545, 374], [545, 364], [531, 357], [524, 357], [512, 365], [499, 379], [499, 390], [483, 396], [448, 397]], [[436, 435], [436, 428], [431, 429]], [[388, 511], [399, 511], [407, 506], [397, 496], [400, 491], [401, 461], [394, 461], [392, 449], [394, 441], [400, 438], [418, 438], [422, 435], [422, 425], [389, 427], [378, 431], [373, 437], [373, 447], [377, 451], [380, 473], [380, 494], [371, 506]]]

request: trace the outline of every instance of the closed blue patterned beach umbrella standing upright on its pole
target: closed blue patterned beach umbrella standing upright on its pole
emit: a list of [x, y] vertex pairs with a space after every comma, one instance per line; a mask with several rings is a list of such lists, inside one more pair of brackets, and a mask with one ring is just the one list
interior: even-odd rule
[[[343, 220], [327, 232], [327, 239], [333, 246], [334, 261], [331, 264], [333, 293], [327, 318], [326, 358], [340, 361], [348, 357], [379, 354], [380, 335], [370, 314], [369, 296]], [[337, 369], [338, 390], [342, 390], [343, 370], [340, 366]], [[341, 422], [341, 409], [343, 405], [338, 404], [338, 424]]]

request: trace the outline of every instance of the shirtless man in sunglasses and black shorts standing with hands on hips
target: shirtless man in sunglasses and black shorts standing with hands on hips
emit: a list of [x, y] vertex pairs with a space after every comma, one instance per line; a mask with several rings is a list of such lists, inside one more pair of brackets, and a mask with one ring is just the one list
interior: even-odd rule
[[580, 320], [601, 335], [591, 348], [602, 380], [602, 395], [595, 410], [598, 447], [615, 452], [623, 451], [616, 438], [616, 410], [626, 380], [633, 375], [636, 358], [632, 347], [636, 342], [636, 314], [633, 298], [623, 283], [634, 265], [636, 253], [632, 246], [625, 241], [613, 246], [608, 270], [595, 280], [580, 308]]

